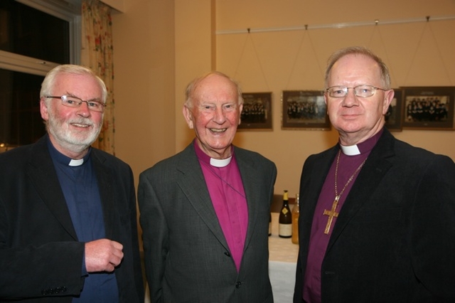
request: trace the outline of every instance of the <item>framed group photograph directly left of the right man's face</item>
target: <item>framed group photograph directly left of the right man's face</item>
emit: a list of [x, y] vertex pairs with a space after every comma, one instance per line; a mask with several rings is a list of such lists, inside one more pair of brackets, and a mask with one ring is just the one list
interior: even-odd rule
[[282, 129], [331, 129], [322, 90], [284, 90], [282, 105]]

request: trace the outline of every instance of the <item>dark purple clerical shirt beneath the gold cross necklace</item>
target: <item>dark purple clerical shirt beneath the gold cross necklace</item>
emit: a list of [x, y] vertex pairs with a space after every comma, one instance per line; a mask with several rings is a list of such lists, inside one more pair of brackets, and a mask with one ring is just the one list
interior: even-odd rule
[[[375, 144], [378, 142], [381, 134], [382, 131], [378, 132], [378, 134], [375, 134], [366, 141], [357, 144], [360, 154], [348, 156], [347, 154], [341, 152], [338, 164], [338, 195], [341, 193], [343, 187], [348, 182], [348, 179], [353, 175], [358, 166], [360, 166], [360, 164], [367, 159], [370, 151], [373, 147], [375, 147]], [[319, 194], [318, 203], [316, 204], [316, 210], [314, 212], [313, 223], [311, 225], [309, 251], [306, 260], [303, 287], [303, 297], [306, 303], [321, 302], [321, 267], [323, 258], [326, 255], [328, 240], [330, 239], [333, 228], [336, 224], [336, 217], [333, 217], [331, 228], [326, 235], [324, 230], [326, 229], [328, 216], [323, 213], [324, 210], [331, 211], [333, 201], [335, 200], [335, 169], [336, 158], [328, 171], [326, 181], [324, 181], [321, 193]], [[337, 213], [341, 212], [343, 203], [346, 201], [346, 197], [348, 196], [350, 188], [353, 186], [357, 176], [358, 174], [355, 174], [353, 180], [350, 181], [348, 186], [346, 186], [346, 189], [338, 200], [338, 206], [336, 208]]]

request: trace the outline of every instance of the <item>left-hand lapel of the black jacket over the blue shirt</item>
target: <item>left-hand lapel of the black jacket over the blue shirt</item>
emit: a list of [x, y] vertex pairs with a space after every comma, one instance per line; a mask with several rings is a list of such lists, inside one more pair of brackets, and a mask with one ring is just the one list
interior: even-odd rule
[[33, 156], [28, 164], [27, 174], [45, 205], [71, 237], [77, 240], [73, 221], [60, 188], [53, 161], [50, 159], [47, 144], [47, 139], [43, 137], [33, 147]]

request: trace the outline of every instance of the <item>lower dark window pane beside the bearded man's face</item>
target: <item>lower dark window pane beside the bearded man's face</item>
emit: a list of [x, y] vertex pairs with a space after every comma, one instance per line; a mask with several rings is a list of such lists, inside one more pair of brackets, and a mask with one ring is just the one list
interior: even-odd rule
[[43, 80], [0, 68], [0, 144], [31, 144], [45, 134], [39, 101]]

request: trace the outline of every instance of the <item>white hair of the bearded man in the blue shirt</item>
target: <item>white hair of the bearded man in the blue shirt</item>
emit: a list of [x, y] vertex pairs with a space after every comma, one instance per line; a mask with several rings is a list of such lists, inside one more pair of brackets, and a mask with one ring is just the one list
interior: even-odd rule
[[73, 64], [63, 64], [58, 65], [57, 67], [53, 68], [45, 75], [43, 83], [41, 83], [41, 92], [40, 98], [50, 96], [53, 94], [52, 90], [55, 85], [55, 78], [57, 78], [60, 74], [73, 74], [73, 75], [90, 75], [97, 81], [98, 85], [100, 85], [102, 91], [102, 102], [106, 103], [107, 99], [107, 88], [104, 81], [98, 77], [90, 68], [86, 68], [82, 65], [73, 65]]

